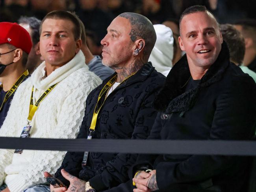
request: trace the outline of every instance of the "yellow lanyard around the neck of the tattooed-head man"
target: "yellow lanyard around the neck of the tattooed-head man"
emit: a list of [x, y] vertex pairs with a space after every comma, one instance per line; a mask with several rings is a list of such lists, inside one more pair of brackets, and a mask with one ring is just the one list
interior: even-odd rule
[[[128, 76], [126, 79], [124, 79], [119, 85], [122, 85], [123, 83], [125, 83], [126, 81], [128, 81], [128, 79], [131, 78], [131, 76], [133, 76], [135, 73], [133, 73], [132, 75]], [[113, 78], [111, 78], [108, 83], [106, 83], [106, 85], [103, 87], [103, 89], [100, 91], [100, 94], [98, 96], [98, 101], [95, 105], [95, 109], [94, 109], [94, 112], [93, 112], [93, 118], [91, 120], [91, 126], [90, 126], [90, 134], [91, 132], [95, 131], [95, 126], [96, 126], [96, 121], [97, 121], [97, 117], [98, 117], [98, 113], [101, 109], [101, 107], [104, 105], [104, 102], [107, 98], [107, 96], [105, 96], [105, 99], [104, 101], [102, 102], [102, 104], [98, 107], [98, 104], [99, 104], [99, 101], [100, 101], [100, 98], [102, 98], [102, 96], [104, 95], [104, 93], [115, 83], [115, 81], [117, 80], [117, 74], [115, 76], [113, 76]], [[119, 86], [118, 85], [118, 86]], [[118, 87], [117, 86], [117, 87]], [[89, 135], [90, 135], [89, 134]]]

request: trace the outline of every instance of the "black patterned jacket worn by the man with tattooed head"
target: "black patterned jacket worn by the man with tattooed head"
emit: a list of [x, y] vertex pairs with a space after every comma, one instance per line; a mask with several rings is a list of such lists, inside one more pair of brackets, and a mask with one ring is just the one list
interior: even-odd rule
[[[115, 74], [89, 94], [78, 138], [87, 138], [98, 95]], [[134, 76], [109, 94], [98, 114], [93, 139], [146, 139], [157, 114], [152, 103], [164, 81], [165, 77], [154, 70], [150, 62], [143, 65]], [[137, 159], [137, 154], [124, 153], [89, 153], [88, 156], [87, 165], [82, 167], [83, 153], [68, 152], [61, 168], [80, 179], [89, 180], [96, 191], [128, 181], [127, 170]], [[67, 184], [60, 174], [61, 168], [55, 176]]]

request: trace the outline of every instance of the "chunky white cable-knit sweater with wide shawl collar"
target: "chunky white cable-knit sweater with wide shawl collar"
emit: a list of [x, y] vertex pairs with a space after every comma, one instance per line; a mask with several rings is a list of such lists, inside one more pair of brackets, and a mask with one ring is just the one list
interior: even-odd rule
[[[101, 83], [84, 63], [80, 51], [69, 63], [41, 80], [43, 62], [15, 93], [9, 112], [0, 129], [1, 137], [20, 137], [27, 124], [32, 84], [38, 99], [48, 87], [58, 83], [39, 105], [32, 119], [32, 138], [76, 138], [82, 124], [88, 94]], [[35, 103], [35, 102], [34, 102]], [[54, 174], [61, 166], [65, 151], [0, 150], [0, 185], [11, 192], [45, 183], [43, 172]]]

